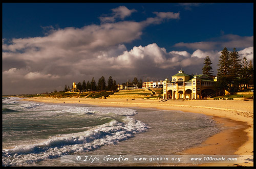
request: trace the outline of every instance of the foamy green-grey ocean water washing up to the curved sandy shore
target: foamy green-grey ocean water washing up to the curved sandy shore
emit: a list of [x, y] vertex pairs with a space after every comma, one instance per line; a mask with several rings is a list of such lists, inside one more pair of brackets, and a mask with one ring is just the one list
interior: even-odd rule
[[221, 130], [212, 117], [183, 111], [17, 97], [2, 97], [2, 103], [3, 166], [94, 165], [60, 162], [70, 154], [177, 154]]

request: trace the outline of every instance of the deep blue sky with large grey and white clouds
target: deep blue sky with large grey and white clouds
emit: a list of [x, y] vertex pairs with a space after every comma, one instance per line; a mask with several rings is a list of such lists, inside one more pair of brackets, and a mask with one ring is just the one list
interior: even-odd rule
[[2, 3], [4, 95], [217, 75], [224, 47], [253, 62], [253, 3]]

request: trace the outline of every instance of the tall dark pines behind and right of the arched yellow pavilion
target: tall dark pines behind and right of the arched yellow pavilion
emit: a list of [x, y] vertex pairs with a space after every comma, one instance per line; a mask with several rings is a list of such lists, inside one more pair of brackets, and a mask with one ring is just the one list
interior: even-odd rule
[[[216, 82], [216, 91], [229, 93], [238, 92], [242, 88], [247, 89], [253, 86], [253, 65], [246, 57], [240, 59], [240, 55], [236, 48], [228, 51], [226, 47], [221, 51], [218, 60], [218, 80]], [[204, 60], [203, 74], [212, 77], [212, 62], [209, 56]]]

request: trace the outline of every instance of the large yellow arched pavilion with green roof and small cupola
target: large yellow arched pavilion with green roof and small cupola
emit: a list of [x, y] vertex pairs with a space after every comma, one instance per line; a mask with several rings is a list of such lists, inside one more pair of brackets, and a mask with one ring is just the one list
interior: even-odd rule
[[215, 94], [215, 80], [209, 76], [187, 75], [182, 70], [163, 81], [163, 99], [202, 99]]

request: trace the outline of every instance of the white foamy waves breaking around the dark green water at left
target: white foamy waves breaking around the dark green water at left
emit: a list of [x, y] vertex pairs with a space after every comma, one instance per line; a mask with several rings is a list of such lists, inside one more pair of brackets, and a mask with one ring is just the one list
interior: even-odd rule
[[[15, 100], [12, 101], [15, 102]], [[6, 101], [6, 103], [12, 104], [10, 100]], [[28, 116], [27, 119], [40, 119], [43, 117], [53, 119], [56, 114], [64, 114], [63, 117], [67, 114], [76, 118], [80, 116], [100, 116], [101, 120], [110, 119], [110, 121], [101, 125], [82, 127], [81, 132], [51, 135], [46, 139], [39, 139], [31, 144], [22, 144], [12, 149], [4, 149], [2, 151], [3, 166], [27, 165], [57, 158], [61, 155], [92, 151], [104, 145], [117, 144], [148, 129], [146, 124], [129, 117], [137, 114], [136, 110], [129, 108], [82, 107], [24, 102], [21, 104], [16, 103], [8, 108], [5, 107], [3, 110], [24, 112], [23, 116]], [[40, 111], [39, 114], [38, 111]], [[26, 123], [29, 123], [29, 121]], [[6, 131], [5, 134], [8, 135], [11, 132]]]

